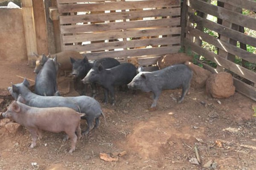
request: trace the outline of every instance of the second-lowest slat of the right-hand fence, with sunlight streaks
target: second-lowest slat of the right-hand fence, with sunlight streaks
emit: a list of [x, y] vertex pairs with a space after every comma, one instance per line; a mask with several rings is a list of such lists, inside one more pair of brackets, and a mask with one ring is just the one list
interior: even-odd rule
[[212, 62], [216, 62], [217, 65], [220, 65], [221, 67], [224, 67], [236, 74], [238, 74], [241, 77], [244, 77], [252, 82], [256, 82], [256, 73], [253, 71], [250, 71], [234, 62], [231, 62], [227, 59], [224, 59], [217, 54], [214, 54], [204, 48], [201, 48], [198, 45], [193, 44], [189, 40], [185, 39], [185, 45], [189, 46], [190, 49], [195, 51], [196, 53], [206, 57], [207, 59], [211, 60]]

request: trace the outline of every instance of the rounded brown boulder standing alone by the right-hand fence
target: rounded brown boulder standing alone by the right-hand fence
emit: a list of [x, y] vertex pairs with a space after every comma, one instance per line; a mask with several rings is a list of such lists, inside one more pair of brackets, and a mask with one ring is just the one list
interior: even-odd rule
[[235, 94], [233, 77], [230, 73], [212, 74], [206, 81], [206, 92], [215, 98], [227, 98]]

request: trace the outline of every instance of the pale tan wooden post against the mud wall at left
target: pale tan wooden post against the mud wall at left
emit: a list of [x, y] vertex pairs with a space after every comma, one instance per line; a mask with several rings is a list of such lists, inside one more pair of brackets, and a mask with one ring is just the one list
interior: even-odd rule
[[23, 14], [28, 64], [29, 66], [33, 66], [32, 59], [34, 58], [34, 53], [38, 53], [36, 34], [35, 34], [33, 4], [32, 4], [32, 0], [21, 0], [21, 2], [22, 2], [22, 14]]

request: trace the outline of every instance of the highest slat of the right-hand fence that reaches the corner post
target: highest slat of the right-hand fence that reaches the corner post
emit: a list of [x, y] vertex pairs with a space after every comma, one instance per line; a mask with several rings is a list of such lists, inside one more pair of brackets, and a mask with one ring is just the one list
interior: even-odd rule
[[213, 15], [223, 20], [229, 20], [239, 26], [256, 30], [256, 20], [243, 14], [205, 3], [201, 0], [187, 0], [188, 6], [198, 11]]

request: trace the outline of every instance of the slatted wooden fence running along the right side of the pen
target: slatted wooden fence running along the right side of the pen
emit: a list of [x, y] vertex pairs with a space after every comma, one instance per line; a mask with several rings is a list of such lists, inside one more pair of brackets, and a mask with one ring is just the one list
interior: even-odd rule
[[[218, 0], [218, 5], [211, 0], [184, 0], [182, 20], [182, 44], [186, 51], [191, 50], [199, 56], [215, 62], [213, 68], [201, 62], [212, 72], [228, 71], [233, 74], [236, 91], [256, 100], [256, 72], [246, 64], [256, 63], [256, 53], [247, 51], [247, 45], [256, 47], [256, 37], [244, 33], [244, 27], [256, 31], [256, 18], [242, 14], [242, 9], [256, 11], [256, 2], [252, 0]], [[217, 17], [217, 23], [207, 19], [207, 14]], [[212, 36], [204, 29], [218, 33]], [[218, 48], [214, 53], [202, 48], [202, 41]], [[239, 45], [240, 47], [238, 47]], [[238, 63], [237, 60], [241, 60]]]

